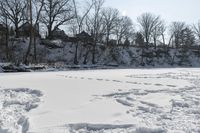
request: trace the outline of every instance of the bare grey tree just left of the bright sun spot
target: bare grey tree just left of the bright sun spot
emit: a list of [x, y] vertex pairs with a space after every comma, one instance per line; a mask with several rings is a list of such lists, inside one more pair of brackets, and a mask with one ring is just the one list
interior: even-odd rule
[[119, 10], [114, 8], [104, 8], [102, 10], [102, 15], [106, 26], [106, 44], [108, 45], [110, 34], [116, 27], [117, 21], [119, 19]]

